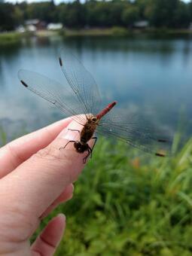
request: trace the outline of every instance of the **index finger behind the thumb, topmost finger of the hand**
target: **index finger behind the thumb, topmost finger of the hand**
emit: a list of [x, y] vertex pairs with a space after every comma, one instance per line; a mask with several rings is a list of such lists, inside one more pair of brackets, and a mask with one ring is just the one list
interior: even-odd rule
[[59, 120], [41, 130], [15, 139], [0, 148], [0, 178], [7, 175], [41, 148], [47, 147], [71, 121], [71, 117]]

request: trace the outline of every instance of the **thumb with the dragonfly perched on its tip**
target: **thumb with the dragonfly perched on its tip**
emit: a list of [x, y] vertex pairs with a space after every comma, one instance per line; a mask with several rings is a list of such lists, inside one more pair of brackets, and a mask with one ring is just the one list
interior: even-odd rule
[[87, 152], [79, 154], [74, 143], [63, 148], [69, 140], [80, 139], [80, 134], [72, 130], [81, 131], [83, 127], [72, 121], [50, 145], [2, 178], [1, 202], [5, 197], [5, 202], [11, 207], [16, 205], [23, 215], [39, 218], [63, 189], [78, 178], [84, 167]]

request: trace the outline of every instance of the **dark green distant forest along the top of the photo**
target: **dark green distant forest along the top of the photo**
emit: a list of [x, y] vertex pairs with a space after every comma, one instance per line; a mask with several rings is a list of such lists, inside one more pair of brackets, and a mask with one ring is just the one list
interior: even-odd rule
[[11, 4], [0, 0], [0, 31], [9, 31], [25, 20], [62, 23], [67, 28], [133, 27], [147, 20], [154, 28], [187, 28], [192, 23], [192, 2], [180, 0], [112, 0], [84, 3], [80, 1], [55, 5], [50, 2]]

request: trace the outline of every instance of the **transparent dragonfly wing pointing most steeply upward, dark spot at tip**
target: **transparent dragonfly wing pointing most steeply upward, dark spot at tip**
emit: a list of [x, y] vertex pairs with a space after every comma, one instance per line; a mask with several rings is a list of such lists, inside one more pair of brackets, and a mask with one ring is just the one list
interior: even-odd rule
[[83, 64], [67, 49], [62, 49], [59, 64], [69, 85], [76, 94], [84, 113], [97, 114], [101, 98], [96, 81]]

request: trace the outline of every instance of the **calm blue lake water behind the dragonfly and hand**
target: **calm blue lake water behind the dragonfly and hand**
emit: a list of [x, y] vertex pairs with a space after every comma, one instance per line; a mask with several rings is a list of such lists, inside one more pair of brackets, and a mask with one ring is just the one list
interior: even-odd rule
[[173, 134], [178, 120], [190, 136], [192, 38], [32, 38], [0, 49], [0, 126], [9, 133], [35, 130], [63, 114], [21, 86], [19, 69], [40, 72], [63, 83], [57, 55], [65, 45], [96, 79], [105, 102], [153, 120]]

